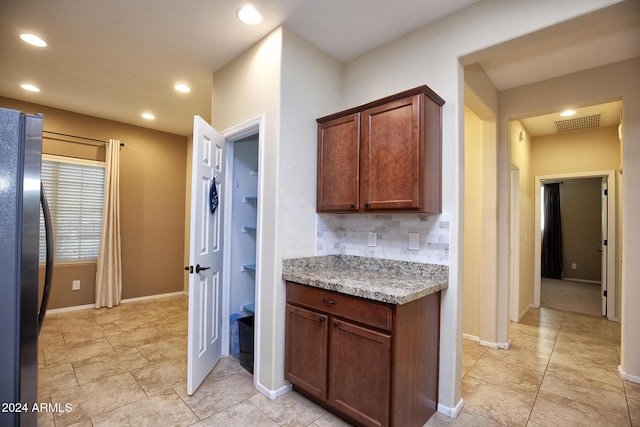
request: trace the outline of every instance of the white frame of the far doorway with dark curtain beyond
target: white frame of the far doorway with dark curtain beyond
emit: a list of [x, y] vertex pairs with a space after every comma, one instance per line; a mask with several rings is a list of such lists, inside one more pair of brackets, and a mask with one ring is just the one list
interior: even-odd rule
[[608, 209], [607, 209], [607, 225], [609, 229], [609, 238], [607, 242], [607, 318], [609, 320], [617, 320], [616, 313], [616, 172], [614, 170], [594, 171], [594, 172], [577, 172], [557, 175], [540, 175], [535, 177], [534, 187], [534, 265], [533, 265], [533, 306], [540, 307], [540, 282], [541, 282], [541, 254], [542, 239], [540, 236], [541, 218], [540, 218], [540, 187], [545, 180], [561, 180], [575, 178], [600, 178], [604, 177], [608, 184]]

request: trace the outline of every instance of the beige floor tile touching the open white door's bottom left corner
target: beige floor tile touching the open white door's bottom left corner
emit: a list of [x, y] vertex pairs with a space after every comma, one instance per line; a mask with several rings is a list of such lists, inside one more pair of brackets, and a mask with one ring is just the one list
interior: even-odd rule
[[163, 360], [131, 371], [147, 395], [164, 390], [186, 389], [187, 358]]

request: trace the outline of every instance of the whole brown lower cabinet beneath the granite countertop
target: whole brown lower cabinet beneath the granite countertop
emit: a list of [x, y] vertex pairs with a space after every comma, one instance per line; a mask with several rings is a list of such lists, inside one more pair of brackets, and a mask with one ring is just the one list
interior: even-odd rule
[[440, 293], [385, 304], [287, 282], [285, 377], [349, 421], [422, 426], [438, 392]]

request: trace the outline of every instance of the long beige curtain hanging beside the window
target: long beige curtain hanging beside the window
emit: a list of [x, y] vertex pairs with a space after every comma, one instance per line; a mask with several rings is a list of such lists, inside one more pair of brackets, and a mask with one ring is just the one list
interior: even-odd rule
[[122, 259], [120, 256], [120, 141], [106, 146], [102, 232], [96, 272], [96, 308], [120, 304]]

